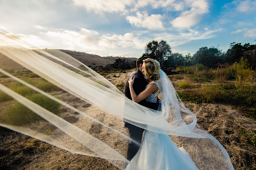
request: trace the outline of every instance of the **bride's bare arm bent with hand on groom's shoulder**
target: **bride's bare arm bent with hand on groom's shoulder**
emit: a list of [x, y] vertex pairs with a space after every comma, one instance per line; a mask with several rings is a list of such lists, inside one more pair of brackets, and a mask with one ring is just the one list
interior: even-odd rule
[[131, 98], [133, 99], [134, 102], [139, 103], [143, 99], [146, 99], [146, 97], [148, 97], [150, 94], [158, 91], [157, 85], [152, 83], [152, 84], [149, 84], [149, 86], [147, 86], [147, 88], [144, 91], [142, 91], [139, 95], [136, 95], [136, 93], [134, 92], [134, 89], [133, 89], [134, 79], [135, 79], [135, 77], [132, 76], [128, 80], [129, 88], [130, 88], [130, 92], [131, 92]]

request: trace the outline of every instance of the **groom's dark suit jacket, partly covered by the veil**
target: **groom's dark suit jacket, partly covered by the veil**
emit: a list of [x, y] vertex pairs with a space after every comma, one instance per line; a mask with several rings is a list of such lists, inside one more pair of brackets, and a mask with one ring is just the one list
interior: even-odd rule
[[[137, 69], [137, 71], [135, 71], [132, 75], [135, 77], [135, 80], [134, 80], [134, 83], [133, 83], [134, 92], [137, 95], [139, 95], [142, 91], [145, 90], [146, 81], [144, 79], [143, 74], [141, 73], [141, 71], [139, 69]], [[132, 100], [128, 79], [127, 79], [126, 84], [125, 84], [125, 96], [128, 99]], [[138, 104], [140, 104], [142, 106], [145, 106], [147, 108], [150, 108], [150, 109], [154, 109], [154, 110], [157, 110], [158, 107], [159, 107], [159, 103], [148, 102], [148, 101], [146, 101], [146, 99], [143, 99]], [[129, 124], [128, 122], [125, 122], [125, 127], [129, 128], [130, 125], [131, 124]]]

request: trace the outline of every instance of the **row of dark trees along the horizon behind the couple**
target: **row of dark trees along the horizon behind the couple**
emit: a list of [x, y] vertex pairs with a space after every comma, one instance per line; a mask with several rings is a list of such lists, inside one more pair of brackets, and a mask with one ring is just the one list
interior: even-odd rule
[[[201, 47], [192, 56], [190, 53], [183, 55], [182, 53], [173, 53], [171, 46], [165, 41], [157, 40], [149, 41], [145, 46], [145, 53], [141, 57], [148, 56], [160, 63], [161, 69], [164, 71], [175, 70], [178, 66], [191, 66], [200, 63], [207, 67], [224, 66], [225, 63], [233, 64], [239, 62], [243, 57], [247, 60], [253, 70], [256, 69], [256, 44], [246, 43], [230, 43], [229, 49], [223, 52], [214, 46]], [[133, 69], [136, 67], [136, 61], [118, 58], [109, 67], [119, 70]]]

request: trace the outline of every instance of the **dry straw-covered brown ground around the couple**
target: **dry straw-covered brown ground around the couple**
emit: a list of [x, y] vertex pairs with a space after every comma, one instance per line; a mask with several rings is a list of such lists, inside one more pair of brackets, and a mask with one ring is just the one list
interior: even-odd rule
[[[132, 72], [115, 73], [106, 75], [108, 79], [121, 92], [124, 92], [125, 82]], [[7, 79], [6, 79], [7, 80]], [[176, 90], [179, 80], [171, 79]], [[10, 80], [9, 80], [10, 81]], [[0, 80], [1, 82], [1, 80]], [[97, 117], [102, 122], [110, 122], [113, 117], [106, 117], [105, 112], [95, 108], [89, 103], [71, 96], [65, 91], [54, 92], [61, 100], [73, 105], [81, 111], [91, 113], [90, 116]], [[256, 131], [256, 125], [253, 120], [244, 117], [239, 113], [239, 108], [223, 104], [193, 104], [184, 102], [185, 106], [196, 114], [198, 124], [205, 130], [209, 131], [218, 141], [225, 147], [230, 155], [231, 162], [235, 169], [256, 169], [255, 167], [255, 147], [249, 145], [244, 139], [239, 136], [241, 129]], [[63, 108], [64, 112], [60, 117], [76, 124], [88, 124], [86, 119], [81, 118], [81, 115], [67, 108]], [[123, 127], [123, 121], [115, 119], [109, 126], [119, 126], [123, 129], [122, 133], [129, 135], [127, 128]], [[34, 125], [34, 128], [52, 129], [48, 124]], [[32, 127], [33, 128], [33, 127]], [[89, 124], [81, 127], [88, 131], [91, 135], [97, 138], [104, 138], [108, 145], [118, 150], [120, 154], [126, 156], [127, 145], [129, 141], [125, 139], [116, 139], [109, 131], [98, 124]], [[118, 169], [105, 159], [90, 157], [79, 154], [72, 154], [69, 151], [41, 142], [37, 139], [26, 135], [16, 133], [6, 128], [0, 127], [0, 169], [1, 170], [30, 170], [30, 169], [52, 169], [52, 170], [75, 170], [75, 169]], [[222, 134], [223, 133], [223, 134]], [[110, 138], [110, 139], [108, 139]], [[240, 158], [239, 158], [240, 157]], [[241, 160], [244, 159], [244, 162]], [[253, 163], [254, 162], [254, 163]]]

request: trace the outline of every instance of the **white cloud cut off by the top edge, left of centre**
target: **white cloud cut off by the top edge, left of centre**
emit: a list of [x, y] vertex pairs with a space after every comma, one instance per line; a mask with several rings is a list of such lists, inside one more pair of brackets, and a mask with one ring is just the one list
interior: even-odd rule
[[130, 6], [134, 0], [72, 0], [74, 5], [85, 7], [88, 11], [102, 12], [127, 12], [126, 6]]

